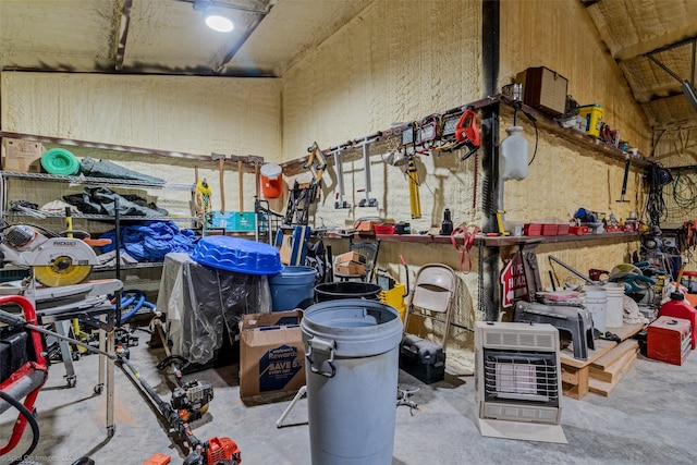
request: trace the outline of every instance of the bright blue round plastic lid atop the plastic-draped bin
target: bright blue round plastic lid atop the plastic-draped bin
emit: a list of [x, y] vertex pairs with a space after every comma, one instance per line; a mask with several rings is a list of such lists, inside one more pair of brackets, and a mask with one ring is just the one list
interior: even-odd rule
[[246, 274], [276, 274], [284, 268], [276, 247], [225, 235], [201, 237], [191, 257], [201, 265]]

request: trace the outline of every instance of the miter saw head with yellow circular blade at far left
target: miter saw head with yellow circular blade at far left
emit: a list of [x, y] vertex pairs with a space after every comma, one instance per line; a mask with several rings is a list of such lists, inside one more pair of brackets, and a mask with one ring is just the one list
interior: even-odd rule
[[47, 237], [27, 224], [5, 229], [0, 241], [4, 262], [30, 267], [34, 278], [50, 287], [78, 284], [99, 264], [95, 250], [83, 240]]

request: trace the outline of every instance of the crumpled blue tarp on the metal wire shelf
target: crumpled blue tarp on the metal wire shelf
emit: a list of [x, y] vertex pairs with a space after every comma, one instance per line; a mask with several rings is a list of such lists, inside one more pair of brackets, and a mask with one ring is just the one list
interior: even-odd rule
[[[121, 250], [125, 250], [138, 261], [163, 261], [170, 252], [191, 253], [198, 242], [193, 230], [181, 230], [173, 221], [143, 221], [121, 227]], [[111, 244], [100, 247], [102, 253], [112, 252], [115, 246], [117, 231], [101, 234], [110, 238]]]

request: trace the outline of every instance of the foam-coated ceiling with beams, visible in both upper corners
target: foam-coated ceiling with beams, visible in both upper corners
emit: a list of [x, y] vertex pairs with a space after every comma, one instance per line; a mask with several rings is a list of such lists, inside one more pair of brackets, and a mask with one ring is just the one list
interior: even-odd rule
[[[236, 28], [219, 34], [204, 25], [193, 0], [0, 0], [0, 65], [48, 72], [282, 76], [371, 1], [215, 0], [269, 12], [225, 9]], [[694, 86], [697, 0], [579, 1], [649, 122], [660, 127], [697, 121], [697, 110], [675, 78]], [[674, 75], [651, 61], [651, 52]]]

